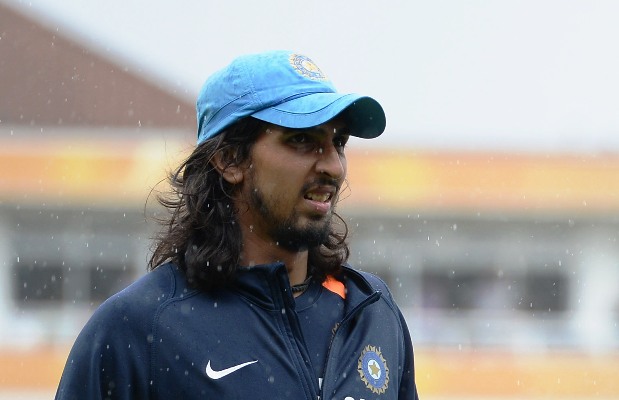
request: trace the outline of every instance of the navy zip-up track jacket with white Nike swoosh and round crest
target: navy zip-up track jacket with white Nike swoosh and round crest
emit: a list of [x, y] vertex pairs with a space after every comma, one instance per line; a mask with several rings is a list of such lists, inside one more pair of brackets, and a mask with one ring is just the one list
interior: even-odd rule
[[411, 339], [387, 287], [349, 267], [338, 279], [344, 318], [321, 380], [283, 264], [243, 269], [234, 288], [208, 293], [165, 264], [95, 311], [56, 399], [417, 399]]

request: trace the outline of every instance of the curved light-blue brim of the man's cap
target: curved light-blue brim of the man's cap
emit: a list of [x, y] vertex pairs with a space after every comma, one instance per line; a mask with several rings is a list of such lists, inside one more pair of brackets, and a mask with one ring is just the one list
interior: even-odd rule
[[385, 130], [385, 112], [380, 104], [357, 94], [310, 93], [260, 110], [252, 117], [286, 128], [310, 128], [340, 114], [353, 136], [371, 139]]

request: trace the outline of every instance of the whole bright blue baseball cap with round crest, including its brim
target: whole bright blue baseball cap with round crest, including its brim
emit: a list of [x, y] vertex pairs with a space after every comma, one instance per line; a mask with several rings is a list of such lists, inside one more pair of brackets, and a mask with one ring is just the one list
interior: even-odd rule
[[350, 134], [368, 139], [386, 125], [376, 100], [338, 93], [312, 60], [289, 51], [236, 58], [207, 79], [196, 108], [198, 144], [248, 116], [286, 128], [310, 128], [344, 112]]

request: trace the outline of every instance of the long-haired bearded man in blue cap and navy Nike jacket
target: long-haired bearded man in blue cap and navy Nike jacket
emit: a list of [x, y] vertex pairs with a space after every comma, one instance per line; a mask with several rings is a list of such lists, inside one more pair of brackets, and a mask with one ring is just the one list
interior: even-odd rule
[[78, 337], [57, 399], [417, 399], [404, 319], [346, 265], [350, 135], [385, 128], [307, 57], [240, 57], [197, 102], [151, 272]]

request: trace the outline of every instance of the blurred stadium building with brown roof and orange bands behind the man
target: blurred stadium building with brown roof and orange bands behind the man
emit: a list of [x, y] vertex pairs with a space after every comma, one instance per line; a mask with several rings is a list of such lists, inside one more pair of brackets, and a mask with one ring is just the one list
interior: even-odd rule
[[[39, 399], [94, 308], [145, 273], [195, 116], [20, 10], [0, 3], [0, 398]], [[422, 398], [619, 398], [617, 152], [348, 158], [351, 263], [403, 308]]]

